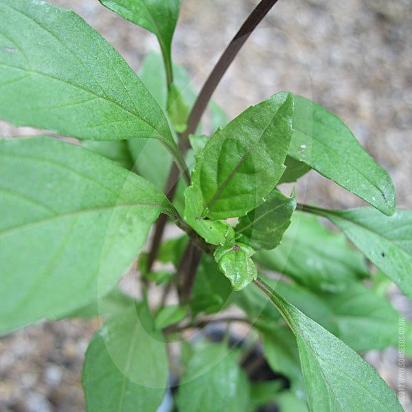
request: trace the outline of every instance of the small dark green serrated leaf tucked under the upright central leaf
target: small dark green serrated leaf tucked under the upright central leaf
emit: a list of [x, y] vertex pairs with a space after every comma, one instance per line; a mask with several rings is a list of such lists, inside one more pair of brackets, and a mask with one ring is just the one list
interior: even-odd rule
[[295, 190], [290, 198], [273, 190], [262, 205], [240, 218], [236, 239], [253, 249], [274, 249], [288, 229], [295, 208]]

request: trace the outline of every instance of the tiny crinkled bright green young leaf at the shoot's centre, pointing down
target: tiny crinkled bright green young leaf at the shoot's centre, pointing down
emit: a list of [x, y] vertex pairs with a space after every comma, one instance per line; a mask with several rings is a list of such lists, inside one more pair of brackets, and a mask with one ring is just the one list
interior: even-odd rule
[[245, 288], [258, 277], [256, 266], [250, 258], [253, 253], [255, 251], [251, 247], [242, 243], [216, 249], [214, 258], [220, 271], [230, 280], [233, 290]]

